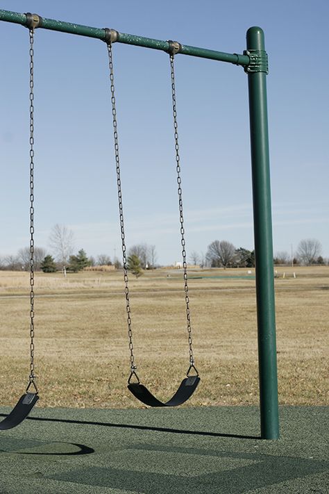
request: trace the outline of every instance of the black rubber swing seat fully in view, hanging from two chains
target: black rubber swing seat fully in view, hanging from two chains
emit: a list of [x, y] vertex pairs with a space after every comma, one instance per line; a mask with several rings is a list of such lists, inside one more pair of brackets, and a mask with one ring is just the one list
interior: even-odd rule
[[140, 400], [140, 402], [149, 406], [179, 406], [184, 402], [187, 402], [189, 398], [193, 395], [196, 387], [200, 382], [199, 376], [189, 376], [185, 377], [180, 383], [180, 386], [173, 397], [168, 402], [160, 402], [158, 398], [155, 398], [146, 386], [140, 383], [130, 383], [128, 384], [128, 390], [133, 393], [133, 395]]

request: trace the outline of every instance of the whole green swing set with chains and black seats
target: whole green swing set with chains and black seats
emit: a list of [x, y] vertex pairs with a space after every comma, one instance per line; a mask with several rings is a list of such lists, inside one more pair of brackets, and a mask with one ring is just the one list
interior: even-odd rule
[[[178, 145], [178, 120], [176, 111], [176, 85], [174, 58], [179, 54], [209, 58], [223, 62], [241, 65], [248, 74], [250, 129], [251, 129], [251, 165], [253, 174], [253, 211], [255, 233], [256, 261], [256, 291], [258, 307], [258, 354], [260, 376], [260, 422], [261, 436], [264, 439], [274, 439], [279, 436], [278, 427], [278, 383], [276, 368], [276, 329], [273, 289], [273, 247], [271, 231], [271, 192], [269, 183], [269, 145], [267, 129], [267, 94], [266, 75], [268, 74], [267, 53], [264, 50], [264, 33], [258, 27], [247, 31], [247, 49], [242, 55], [223, 53], [196, 47], [189, 47], [176, 41], [160, 41], [151, 38], [119, 33], [114, 29], [92, 28], [78, 24], [69, 24], [45, 19], [36, 14], [14, 13], [0, 10], [0, 20], [26, 26], [30, 39], [30, 372], [28, 386], [19, 398], [16, 406], [9, 415], [0, 422], [0, 430], [12, 429], [19, 425], [31, 412], [39, 399], [36, 385], [34, 364], [34, 35], [37, 28], [51, 29], [98, 38], [106, 42], [108, 49], [108, 65], [110, 70], [110, 94], [112, 104], [112, 125], [115, 145], [115, 165], [117, 171], [117, 191], [119, 203], [119, 222], [121, 229], [121, 248], [124, 267], [124, 284], [126, 297], [126, 313], [128, 324], [128, 339], [130, 350], [130, 375], [128, 389], [133, 395], [148, 406], [178, 406], [192, 396], [200, 382], [196, 370], [193, 346], [192, 325], [189, 311], [189, 288], [187, 283], [187, 261], [185, 228], [183, 220], [183, 191], [180, 176], [180, 155]], [[169, 54], [171, 75], [171, 99], [174, 121], [174, 149], [176, 159], [176, 175], [178, 184], [178, 205], [180, 220], [180, 242], [182, 245], [183, 279], [185, 290], [185, 312], [187, 320], [187, 336], [189, 345], [189, 365], [186, 377], [181, 382], [176, 393], [167, 402], [155, 397], [141, 383], [137, 375], [133, 345], [133, 330], [130, 313], [130, 297], [128, 284], [128, 267], [126, 258], [126, 234], [124, 230], [124, 213], [121, 187], [121, 169], [119, 158], [119, 138], [117, 130], [117, 108], [115, 101], [115, 80], [112, 61], [112, 44], [121, 42], [141, 47], [158, 49]]]

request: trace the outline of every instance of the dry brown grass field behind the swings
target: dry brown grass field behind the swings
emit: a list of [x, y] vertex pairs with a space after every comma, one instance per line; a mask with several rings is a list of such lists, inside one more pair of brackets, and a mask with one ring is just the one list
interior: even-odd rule
[[[137, 372], [162, 399], [189, 365], [182, 277], [170, 269], [130, 276]], [[27, 273], [0, 272], [3, 405], [28, 381], [28, 282]], [[280, 404], [328, 404], [329, 267], [279, 267], [275, 285]], [[246, 269], [190, 270], [189, 295], [201, 383], [185, 406], [258, 404], [254, 277]], [[121, 272], [36, 274], [40, 406], [142, 406], [126, 388], [125, 310]]]

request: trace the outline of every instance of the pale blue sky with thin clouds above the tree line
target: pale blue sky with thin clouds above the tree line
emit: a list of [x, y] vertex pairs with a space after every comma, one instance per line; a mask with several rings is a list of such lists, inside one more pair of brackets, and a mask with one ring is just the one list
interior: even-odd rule
[[[329, 257], [328, 0], [2, 0], [0, 8], [196, 47], [242, 53], [261, 26], [274, 253], [317, 238]], [[0, 256], [28, 245], [28, 31], [0, 22]], [[180, 260], [169, 56], [115, 44], [117, 120], [128, 247]], [[187, 257], [213, 240], [253, 249], [247, 76], [242, 67], [176, 57]], [[35, 33], [35, 243], [54, 224], [76, 251], [120, 257], [106, 44]]]

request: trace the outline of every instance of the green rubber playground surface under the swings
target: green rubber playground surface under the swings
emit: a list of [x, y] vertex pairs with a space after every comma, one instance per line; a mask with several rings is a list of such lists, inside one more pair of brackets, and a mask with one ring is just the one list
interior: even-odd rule
[[[2, 407], [0, 413], [8, 413]], [[329, 493], [328, 407], [38, 409], [0, 434], [1, 494]]]

